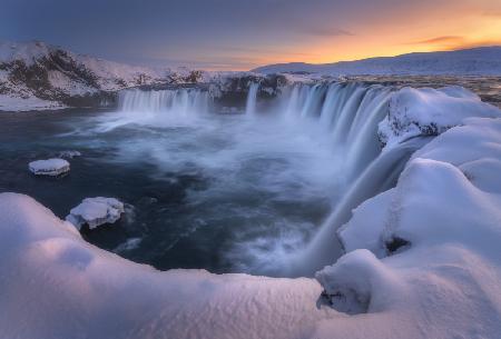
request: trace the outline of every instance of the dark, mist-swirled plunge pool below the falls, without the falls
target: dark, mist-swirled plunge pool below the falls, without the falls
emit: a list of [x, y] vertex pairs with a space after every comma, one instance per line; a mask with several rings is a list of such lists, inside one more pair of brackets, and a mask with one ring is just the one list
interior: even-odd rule
[[[144, 119], [143, 119], [144, 118]], [[158, 269], [279, 275], [338, 199], [330, 140], [307, 121], [244, 114], [148, 119], [67, 110], [0, 116], [0, 191], [65, 218], [87, 197], [128, 205], [91, 243]], [[62, 178], [28, 162], [78, 150]]]

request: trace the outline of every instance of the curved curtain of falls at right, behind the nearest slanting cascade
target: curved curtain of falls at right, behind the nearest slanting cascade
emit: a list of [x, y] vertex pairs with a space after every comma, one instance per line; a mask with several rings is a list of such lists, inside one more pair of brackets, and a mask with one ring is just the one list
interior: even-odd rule
[[389, 109], [391, 89], [356, 82], [297, 84], [282, 98], [281, 111], [288, 119], [311, 119], [330, 134], [341, 181], [348, 186], [367, 168], [381, 148], [377, 123]]

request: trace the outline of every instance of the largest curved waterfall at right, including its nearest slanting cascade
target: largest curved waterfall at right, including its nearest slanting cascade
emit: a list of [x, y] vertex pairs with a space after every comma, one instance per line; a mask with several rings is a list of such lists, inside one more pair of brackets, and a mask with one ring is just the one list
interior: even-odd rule
[[297, 84], [285, 91], [281, 111], [287, 119], [316, 121], [330, 136], [338, 163], [341, 200], [306, 249], [291, 258], [289, 276], [311, 276], [342, 255], [337, 229], [352, 210], [396, 182], [410, 156], [428, 139], [413, 139], [381, 151], [377, 124], [389, 113], [392, 89], [356, 82]]

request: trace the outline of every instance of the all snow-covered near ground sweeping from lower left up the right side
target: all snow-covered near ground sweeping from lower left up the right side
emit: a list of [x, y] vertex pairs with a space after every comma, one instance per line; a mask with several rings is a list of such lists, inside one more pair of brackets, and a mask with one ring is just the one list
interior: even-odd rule
[[501, 119], [485, 117], [501, 112], [459, 89], [411, 94], [460, 126], [407, 110], [449, 129], [355, 209], [338, 230], [346, 253], [316, 279], [156, 271], [1, 193], [0, 338], [498, 338]]

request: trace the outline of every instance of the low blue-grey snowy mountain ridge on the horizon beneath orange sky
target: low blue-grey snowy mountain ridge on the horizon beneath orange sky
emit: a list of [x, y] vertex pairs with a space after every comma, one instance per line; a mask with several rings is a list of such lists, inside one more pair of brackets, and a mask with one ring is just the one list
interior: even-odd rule
[[277, 63], [254, 69], [259, 73], [321, 73], [330, 76], [455, 74], [501, 76], [501, 47], [480, 47], [446, 52], [312, 64]]

